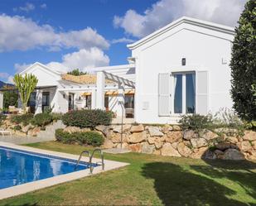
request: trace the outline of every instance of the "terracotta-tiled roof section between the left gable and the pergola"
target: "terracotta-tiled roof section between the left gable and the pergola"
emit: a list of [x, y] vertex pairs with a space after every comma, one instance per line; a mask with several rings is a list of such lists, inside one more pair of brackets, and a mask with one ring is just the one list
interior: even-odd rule
[[[61, 78], [65, 81], [74, 82], [77, 84], [96, 84], [97, 76], [96, 74], [84, 74], [80, 76], [74, 76], [71, 74], [62, 74]], [[105, 84], [112, 84], [113, 82], [106, 79]]]

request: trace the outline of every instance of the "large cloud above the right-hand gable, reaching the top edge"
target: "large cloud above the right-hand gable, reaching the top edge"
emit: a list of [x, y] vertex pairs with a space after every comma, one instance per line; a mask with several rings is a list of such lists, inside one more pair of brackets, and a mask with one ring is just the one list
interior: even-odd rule
[[247, 0], [160, 0], [142, 14], [128, 10], [114, 17], [114, 26], [136, 37], [146, 36], [179, 17], [195, 17], [235, 26]]

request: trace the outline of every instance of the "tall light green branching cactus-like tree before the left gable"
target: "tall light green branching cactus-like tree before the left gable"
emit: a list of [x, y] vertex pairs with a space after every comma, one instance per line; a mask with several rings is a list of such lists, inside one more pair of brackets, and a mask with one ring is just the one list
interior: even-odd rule
[[20, 93], [22, 108], [25, 113], [27, 108], [27, 102], [30, 98], [31, 93], [36, 88], [38, 79], [33, 74], [25, 74], [24, 77], [22, 77], [22, 75], [20, 74], [15, 74], [13, 81]]

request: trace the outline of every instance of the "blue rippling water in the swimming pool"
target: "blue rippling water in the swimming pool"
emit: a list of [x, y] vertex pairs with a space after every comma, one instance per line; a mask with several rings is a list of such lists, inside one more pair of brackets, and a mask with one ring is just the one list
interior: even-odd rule
[[75, 164], [75, 160], [0, 146], [0, 189], [89, 168], [82, 163], [75, 170]]

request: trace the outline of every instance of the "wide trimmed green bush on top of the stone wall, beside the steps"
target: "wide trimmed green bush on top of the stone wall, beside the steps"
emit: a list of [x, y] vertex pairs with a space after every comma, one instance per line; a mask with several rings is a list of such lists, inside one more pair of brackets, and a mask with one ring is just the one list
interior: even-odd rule
[[98, 125], [109, 125], [112, 121], [112, 113], [100, 109], [77, 110], [65, 113], [62, 121], [66, 126], [95, 128]]

